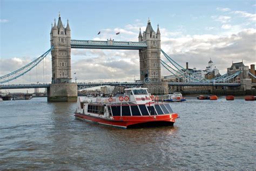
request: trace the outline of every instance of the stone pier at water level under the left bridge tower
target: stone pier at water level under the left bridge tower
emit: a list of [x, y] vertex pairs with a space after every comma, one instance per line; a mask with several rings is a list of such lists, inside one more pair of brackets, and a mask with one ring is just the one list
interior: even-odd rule
[[76, 83], [57, 83], [51, 84], [47, 88], [48, 102], [76, 102], [77, 84]]

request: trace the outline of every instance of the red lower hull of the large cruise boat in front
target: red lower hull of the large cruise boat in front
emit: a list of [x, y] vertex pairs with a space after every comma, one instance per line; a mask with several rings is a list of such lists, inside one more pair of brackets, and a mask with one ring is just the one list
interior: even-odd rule
[[177, 113], [169, 115], [156, 115], [156, 116], [114, 116], [113, 119], [104, 119], [95, 116], [81, 115], [75, 113], [75, 117], [78, 119], [87, 120], [89, 122], [95, 122], [104, 125], [117, 126], [126, 129], [132, 125], [146, 124], [146, 123], [168, 123], [173, 125], [175, 119], [178, 118]]

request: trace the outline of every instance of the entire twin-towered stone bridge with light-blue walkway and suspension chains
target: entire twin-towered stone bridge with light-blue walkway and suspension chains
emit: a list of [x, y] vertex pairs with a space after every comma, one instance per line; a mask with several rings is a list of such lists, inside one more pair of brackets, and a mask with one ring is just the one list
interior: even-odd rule
[[[241, 71], [232, 75], [225, 75], [218, 79], [206, 80], [198, 78], [181, 67], [161, 49], [161, 37], [159, 25], [157, 32], [153, 30], [150, 20], [147, 22], [146, 30], [142, 33], [139, 30], [138, 42], [134, 41], [96, 41], [96, 40], [75, 40], [71, 39], [69, 21], [64, 27], [62, 20], [58, 18], [51, 27], [50, 45], [51, 48], [43, 55], [28, 65], [0, 77], [0, 89], [19, 88], [47, 88], [48, 101], [76, 101], [78, 88], [89, 88], [95, 86], [124, 86], [149, 88], [151, 94], [167, 94], [168, 86], [227, 86], [239, 87], [241, 83], [229, 82], [239, 76]], [[106, 83], [72, 83], [71, 82], [71, 48], [81, 49], [129, 49], [139, 51], [140, 82], [106, 82]], [[51, 52], [52, 79], [51, 84], [4, 84], [15, 80], [28, 73], [38, 65], [46, 55]], [[167, 61], [175, 67], [169, 66], [160, 59], [163, 53]], [[167, 82], [161, 79], [161, 65], [177, 77], [183, 77], [185, 82]]]

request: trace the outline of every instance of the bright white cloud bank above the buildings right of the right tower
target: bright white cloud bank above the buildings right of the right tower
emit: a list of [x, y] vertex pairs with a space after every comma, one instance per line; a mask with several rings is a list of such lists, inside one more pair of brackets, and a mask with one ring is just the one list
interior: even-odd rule
[[189, 62], [190, 68], [205, 69], [211, 57], [221, 74], [224, 74], [232, 61], [243, 59], [245, 65], [256, 62], [255, 37], [256, 30], [248, 28], [231, 35], [186, 35], [163, 41], [161, 46], [181, 66]]

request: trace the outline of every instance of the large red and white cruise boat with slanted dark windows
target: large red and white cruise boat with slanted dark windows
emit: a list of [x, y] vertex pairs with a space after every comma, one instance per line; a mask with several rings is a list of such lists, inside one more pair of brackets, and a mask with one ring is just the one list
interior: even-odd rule
[[169, 103], [155, 101], [147, 88], [129, 88], [124, 91], [125, 95], [119, 97], [78, 97], [75, 117], [124, 129], [173, 125], [178, 118]]

